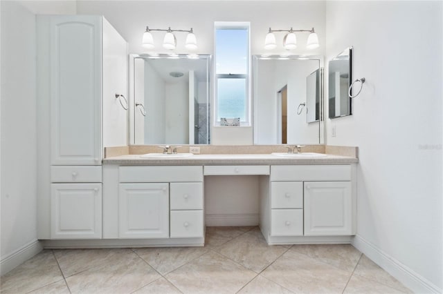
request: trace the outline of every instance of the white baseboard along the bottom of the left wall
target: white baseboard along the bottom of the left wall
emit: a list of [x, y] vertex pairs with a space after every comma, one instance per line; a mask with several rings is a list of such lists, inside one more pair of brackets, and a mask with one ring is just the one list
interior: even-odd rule
[[1, 257], [0, 261], [0, 275], [4, 275], [11, 271], [16, 266], [23, 264], [37, 253], [43, 250], [39, 240], [35, 239], [24, 246], [21, 246], [16, 251]]

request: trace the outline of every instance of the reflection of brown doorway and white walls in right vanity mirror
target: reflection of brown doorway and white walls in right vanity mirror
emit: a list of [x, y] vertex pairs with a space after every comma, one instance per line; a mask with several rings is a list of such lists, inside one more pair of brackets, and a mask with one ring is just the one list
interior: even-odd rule
[[324, 143], [322, 61], [253, 57], [254, 144]]

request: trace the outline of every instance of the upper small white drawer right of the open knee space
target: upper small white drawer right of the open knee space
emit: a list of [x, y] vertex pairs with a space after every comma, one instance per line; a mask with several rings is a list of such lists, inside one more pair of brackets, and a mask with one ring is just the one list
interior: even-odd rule
[[303, 208], [303, 182], [271, 182], [271, 208]]

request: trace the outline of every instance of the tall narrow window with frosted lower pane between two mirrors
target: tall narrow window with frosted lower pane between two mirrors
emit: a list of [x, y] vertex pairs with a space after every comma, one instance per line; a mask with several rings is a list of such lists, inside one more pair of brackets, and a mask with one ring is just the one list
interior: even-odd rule
[[215, 125], [251, 125], [249, 84], [249, 23], [215, 23]]

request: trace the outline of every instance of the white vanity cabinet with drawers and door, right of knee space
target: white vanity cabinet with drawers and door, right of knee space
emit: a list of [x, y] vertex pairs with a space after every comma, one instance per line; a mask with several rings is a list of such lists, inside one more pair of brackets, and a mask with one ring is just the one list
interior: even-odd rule
[[260, 224], [268, 243], [354, 235], [354, 173], [352, 164], [271, 166]]

